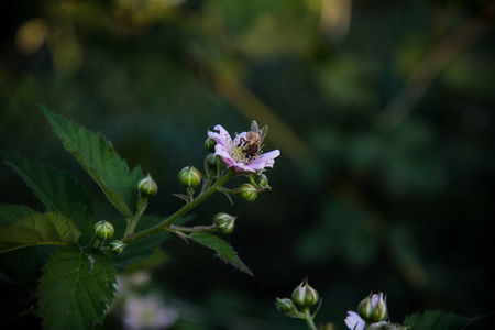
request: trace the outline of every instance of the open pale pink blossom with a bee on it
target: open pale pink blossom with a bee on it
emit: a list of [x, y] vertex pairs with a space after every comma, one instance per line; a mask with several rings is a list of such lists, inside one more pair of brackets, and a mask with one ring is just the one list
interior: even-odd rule
[[219, 155], [229, 168], [233, 168], [237, 173], [255, 173], [265, 167], [273, 167], [275, 158], [280, 155], [279, 150], [268, 153], [260, 153], [255, 156], [249, 156], [243, 147], [240, 146], [245, 141], [248, 132], [242, 132], [232, 141], [229, 132], [218, 124], [215, 127], [216, 132], [208, 132], [208, 136], [217, 141], [215, 145], [215, 154]]

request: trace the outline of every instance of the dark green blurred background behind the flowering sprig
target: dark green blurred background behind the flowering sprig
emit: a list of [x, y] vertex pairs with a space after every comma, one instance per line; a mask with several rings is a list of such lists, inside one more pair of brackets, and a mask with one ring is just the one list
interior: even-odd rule
[[[323, 297], [317, 323], [339, 329], [371, 290], [387, 293], [396, 322], [428, 309], [495, 310], [490, 1], [2, 7], [0, 148], [77, 175], [99, 218], [118, 213], [36, 103], [101, 132], [131, 167], [150, 172], [160, 186], [154, 215], [183, 205], [172, 196], [184, 189], [177, 173], [202, 168], [218, 123], [232, 134], [253, 119], [268, 124], [264, 150], [282, 152], [267, 172], [272, 193], [234, 206], [213, 196], [189, 222], [239, 216], [226, 240], [255, 277], [170, 235], [145, 272], [122, 274], [101, 328], [139, 329], [128, 318], [150, 306], [166, 320], [161, 328], [306, 329], [275, 308], [306, 276]], [[0, 201], [42, 209], [1, 168]]]

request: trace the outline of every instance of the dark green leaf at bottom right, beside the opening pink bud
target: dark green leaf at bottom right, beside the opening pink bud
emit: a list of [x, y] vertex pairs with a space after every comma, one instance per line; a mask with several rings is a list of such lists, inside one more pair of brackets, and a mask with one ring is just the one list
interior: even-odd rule
[[441, 310], [429, 310], [425, 314], [414, 314], [404, 320], [404, 324], [411, 329], [421, 330], [459, 330], [469, 319]]

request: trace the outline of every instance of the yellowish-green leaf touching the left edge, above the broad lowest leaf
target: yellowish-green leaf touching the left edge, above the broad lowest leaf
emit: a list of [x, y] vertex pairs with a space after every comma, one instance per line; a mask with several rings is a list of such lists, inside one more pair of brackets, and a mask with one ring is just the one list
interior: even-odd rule
[[0, 252], [41, 244], [74, 244], [80, 232], [58, 212], [34, 213], [0, 226]]

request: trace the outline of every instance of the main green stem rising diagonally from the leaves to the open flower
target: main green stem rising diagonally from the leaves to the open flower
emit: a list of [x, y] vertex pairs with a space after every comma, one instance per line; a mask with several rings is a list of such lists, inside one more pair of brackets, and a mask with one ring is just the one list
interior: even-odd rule
[[129, 245], [131, 243], [134, 243], [135, 241], [139, 241], [141, 239], [147, 238], [152, 234], [158, 233], [161, 231], [169, 229], [169, 226], [174, 223], [177, 219], [182, 218], [184, 215], [186, 215], [188, 211], [194, 209], [196, 206], [201, 204], [205, 199], [210, 197], [212, 194], [215, 194], [219, 187], [223, 186], [232, 176], [234, 175], [233, 172], [228, 172], [226, 176], [220, 178], [215, 185], [212, 185], [210, 188], [201, 193], [197, 198], [193, 200], [190, 204], [186, 204], [183, 208], [180, 208], [178, 211], [176, 211], [174, 215], [165, 219], [164, 221], [160, 222], [158, 224], [151, 227], [146, 230], [143, 230], [141, 232], [138, 232], [131, 237], [127, 237], [122, 240], [122, 243], [125, 245]]

